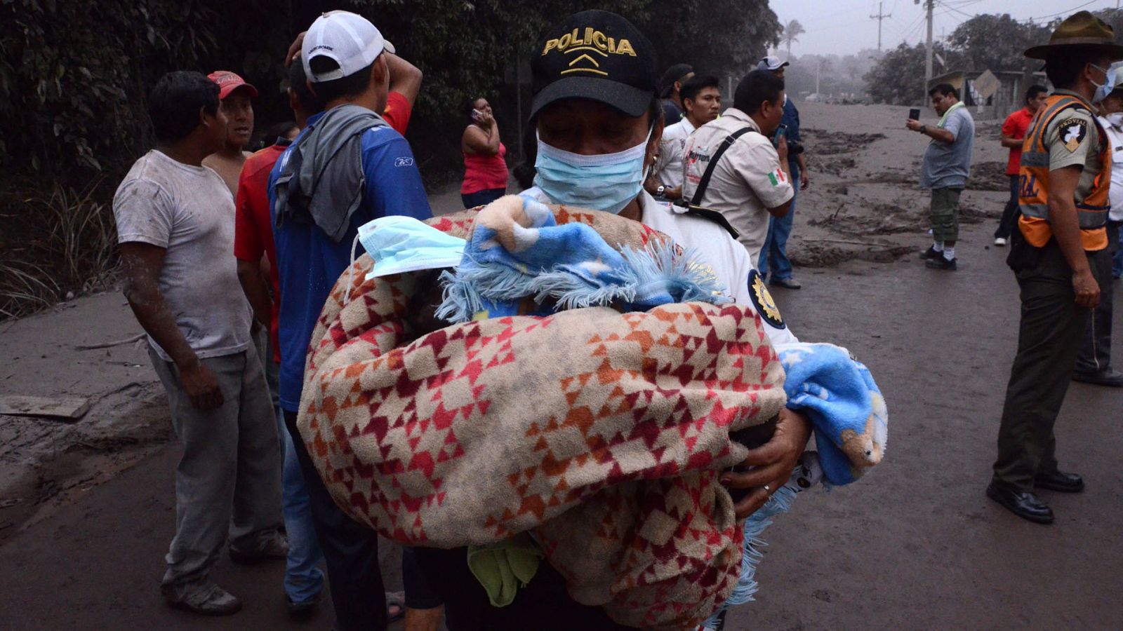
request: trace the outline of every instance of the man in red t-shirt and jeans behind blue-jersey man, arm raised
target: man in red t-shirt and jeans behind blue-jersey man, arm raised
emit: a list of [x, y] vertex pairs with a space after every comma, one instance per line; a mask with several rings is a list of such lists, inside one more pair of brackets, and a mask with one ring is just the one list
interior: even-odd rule
[[[389, 49], [387, 49], [389, 52]], [[399, 134], [405, 134], [413, 101], [421, 86], [421, 71], [401, 57], [386, 57], [390, 71], [390, 94], [383, 118]], [[303, 128], [308, 118], [323, 109], [308, 89], [303, 64], [299, 61], [289, 67], [289, 104], [295, 115], [296, 126]], [[238, 280], [254, 309], [254, 318], [270, 331], [270, 365], [266, 369], [274, 409], [279, 411], [277, 431], [282, 440], [284, 470], [282, 475], [283, 516], [289, 536], [289, 563], [284, 589], [289, 611], [303, 613], [314, 607], [323, 589], [323, 573], [317, 567], [322, 555], [316, 539], [308, 491], [300, 464], [293, 450], [292, 437], [285, 428], [277, 408], [277, 364], [281, 362], [277, 342], [279, 303], [281, 300], [277, 277], [276, 248], [273, 245], [273, 221], [270, 216], [268, 179], [273, 165], [291, 140], [277, 141], [246, 159], [238, 177], [235, 199], [236, 223], [234, 256], [238, 259]], [[267, 265], [262, 263], [265, 257]], [[267, 267], [268, 281], [265, 275]], [[263, 355], [264, 357], [264, 355]], [[401, 610], [401, 605], [398, 605]]]

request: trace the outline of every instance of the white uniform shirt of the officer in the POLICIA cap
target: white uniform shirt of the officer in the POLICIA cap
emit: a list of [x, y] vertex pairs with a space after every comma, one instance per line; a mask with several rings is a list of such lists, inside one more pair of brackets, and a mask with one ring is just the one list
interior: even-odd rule
[[[555, 203], [538, 186], [520, 194], [542, 203]], [[729, 287], [733, 302], [749, 305], [760, 316], [773, 346], [798, 344], [800, 340], [787, 328], [768, 293], [764, 278], [754, 267], [749, 253], [725, 228], [709, 219], [690, 214], [682, 207], [659, 202], [647, 191], [640, 191], [639, 208], [646, 226], [667, 235], [684, 248], [694, 248], [702, 262]]]

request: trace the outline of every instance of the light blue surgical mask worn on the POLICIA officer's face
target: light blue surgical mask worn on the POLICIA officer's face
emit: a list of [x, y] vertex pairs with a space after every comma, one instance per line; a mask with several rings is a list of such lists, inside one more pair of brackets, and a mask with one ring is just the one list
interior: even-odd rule
[[551, 147], [539, 138], [535, 185], [554, 203], [619, 213], [643, 188], [643, 157], [650, 139], [648, 129], [647, 138], [634, 147], [585, 156]]

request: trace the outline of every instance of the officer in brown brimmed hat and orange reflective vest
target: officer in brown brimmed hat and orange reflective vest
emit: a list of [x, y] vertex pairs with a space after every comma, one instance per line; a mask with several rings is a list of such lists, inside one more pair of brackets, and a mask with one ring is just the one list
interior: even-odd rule
[[1053, 423], [1065, 401], [1092, 309], [1099, 302], [1107, 250], [1111, 146], [1093, 103], [1112, 91], [1108, 66], [1123, 58], [1112, 27], [1088, 11], [1062, 21], [1049, 44], [1025, 52], [1044, 60], [1056, 91], [1025, 135], [1021, 217], [1007, 263], [1021, 287], [1017, 355], [1011, 368], [998, 458], [987, 496], [1020, 518], [1050, 523], [1033, 491], [1084, 490], [1057, 467]]

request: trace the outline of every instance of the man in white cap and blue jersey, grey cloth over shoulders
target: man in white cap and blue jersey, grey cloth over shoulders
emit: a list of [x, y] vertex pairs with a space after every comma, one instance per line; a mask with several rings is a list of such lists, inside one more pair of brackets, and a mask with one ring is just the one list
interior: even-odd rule
[[[350, 264], [358, 226], [387, 214], [432, 214], [409, 144], [376, 113], [386, 111], [395, 63], [378, 29], [357, 13], [331, 11], [317, 18], [300, 44], [299, 63], [326, 109], [308, 118], [270, 174], [281, 287], [281, 408], [294, 439], [309, 340], [331, 287]], [[293, 442], [337, 625], [384, 629], [377, 534], [335, 504], [303, 440]]]

